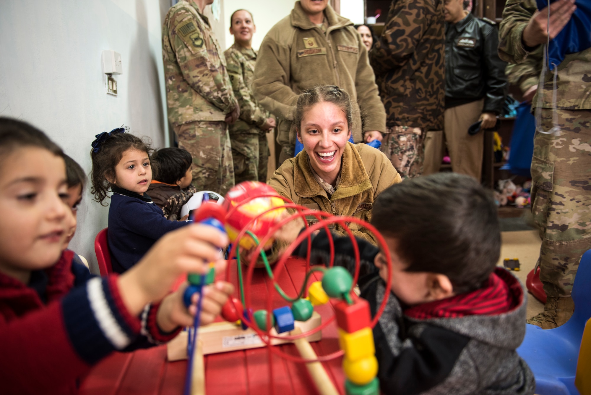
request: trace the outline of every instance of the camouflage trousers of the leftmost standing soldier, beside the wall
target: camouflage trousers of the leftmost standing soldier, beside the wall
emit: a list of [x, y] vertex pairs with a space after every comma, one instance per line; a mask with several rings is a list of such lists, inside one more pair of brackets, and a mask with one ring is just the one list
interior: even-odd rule
[[193, 156], [193, 185], [197, 191], [225, 195], [234, 186], [234, 166], [228, 125], [223, 121], [196, 121], [174, 127], [178, 147]]

